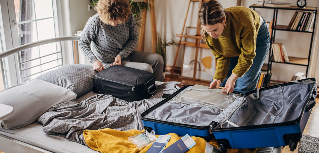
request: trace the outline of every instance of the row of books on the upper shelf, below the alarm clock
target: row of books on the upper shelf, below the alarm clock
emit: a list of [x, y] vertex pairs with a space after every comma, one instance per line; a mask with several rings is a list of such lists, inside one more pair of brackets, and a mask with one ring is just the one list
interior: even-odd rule
[[314, 11], [296, 11], [295, 14], [293, 14], [293, 18], [291, 18], [289, 25], [287, 26], [287, 29], [312, 32], [314, 20]]

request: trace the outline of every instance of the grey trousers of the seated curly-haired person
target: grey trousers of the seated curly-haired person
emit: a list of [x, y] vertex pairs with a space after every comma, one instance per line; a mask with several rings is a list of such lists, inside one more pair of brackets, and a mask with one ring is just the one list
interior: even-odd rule
[[[111, 66], [111, 63], [102, 63], [104, 68]], [[131, 54], [122, 59], [121, 64], [123, 66], [141, 69], [148, 72], [152, 72], [155, 75], [156, 81], [163, 81], [163, 57], [159, 54], [132, 51]]]

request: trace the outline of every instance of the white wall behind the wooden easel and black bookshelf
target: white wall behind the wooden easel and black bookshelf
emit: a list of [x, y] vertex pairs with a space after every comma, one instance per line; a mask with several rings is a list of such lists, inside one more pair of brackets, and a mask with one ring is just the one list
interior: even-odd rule
[[[237, 3], [237, 0], [219, 0], [219, 2], [224, 6], [224, 8], [228, 8], [228, 7], [235, 6]], [[286, 2], [286, 3], [292, 3], [292, 5], [296, 5], [295, 0], [294, 1], [277, 0], [276, 2]], [[249, 7], [250, 5], [256, 4], [256, 3], [257, 3], [257, 0], [242, 0], [241, 6]], [[167, 39], [173, 38], [176, 34], [180, 34], [182, 31], [182, 25], [183, 25], [186, 11], [187, 11], [187, 4], [188, 4], [187, 0], [157, 0], [155, 3], [157, 31], [160, 31], [162, 34], [164, 34]], [[195, 3], [194, 5], [191, 4], [186, 26], [196, 27], [197, 12], [198, 12], [197, 4], [198, 3]], [[317, 0], [308, 0], [307, 6], [318, 7], [318, 4], [319, 2]], [[258, 12], [261, 16], [263, 16], [266, 21], [270, 21], [273, 17], [273, 11], [271, 11], [271, 9], [256, 9], [256, 12]], [[288, 25], [294, 12], [295, 11], [279, 10], [277, 24]], [[281, 42], [285, 45], [289, 56], [307, 58], [308, 52], [309, 52], [309, 46], [310, 46], [310, 38], [311, 38], [310, 33], [276, 31], [275, 40], [276, 42]], [[316, 48], [315, 44], [317, 40], [315, 38], [314, 38], [313, 48]], [[179, 37], [175, 37], [175, 40], [178, 41]], [[167, 65], [173, 65], [176, 49], [177, 49], [176, 47], [167, 47], [167, 52], [168, 52]], [[147, 21], [146, 21], [145, 51], [151, 52], [151, 50], [152, 50], [151, 25], [150, 25], [150, 15], [148, 13]], [[181, 47], [179, 51], [178, 60], [176, 64], [177, 67], [182, 67], [182, 55], [183, 55], [182, 51], [183, 51], [183, 47]], [[313, 49], [312, 53], [314, 53], [314, 51], [317, 52], [317, 49]], [[317, 55], [314, 56], [314, 54], [312, 54], [312, 58], [313, 57], [317, 57]], [[266, 60], [268, 61], [268, 58]], [[312, 61], [316, 62], [317, 59]], [[312, 61], [310, 61], [311, 64], [312, 64]], [[314, 63], [314, 66], [315, 65], [316, 63]], [[308, 75], [313, 77], [315, 75], [314, 74], [315, 71], [311, 72], [311, 70], [312, 69], [309, 68], [310, 73], [308, 73]], [[290, 77], [298, 71], [306, 72], [306, 67], [273, 63], [273, 66], [272, 66], [273, 75], [271, 79], [288, 81]]]

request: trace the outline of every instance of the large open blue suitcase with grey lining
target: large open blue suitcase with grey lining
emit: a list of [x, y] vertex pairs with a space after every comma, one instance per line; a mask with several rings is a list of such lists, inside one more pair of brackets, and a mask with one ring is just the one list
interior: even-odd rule
[[[205, 87], [205, 86], [204, 86]], [[141, 114], [144, 128], [156, 134], [189, 134], [220, 150], [289, 145], [293, 151], [317, 95], [315, 78], [229, 95], [219, 89], [186, 86]], [[199, 88], [199, 89], [198, 89]]]

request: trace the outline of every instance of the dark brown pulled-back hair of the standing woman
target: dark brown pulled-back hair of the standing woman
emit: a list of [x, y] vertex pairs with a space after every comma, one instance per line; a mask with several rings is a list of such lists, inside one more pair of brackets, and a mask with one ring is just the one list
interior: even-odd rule
[[[198, 18], [201, 25], [214, 25], [223, 22], [226, 12], [223, 6], [215, 0], [203, 3], [198, 11]], [[202, 37], [205, 38], [206, 32], [202, 29]]]

